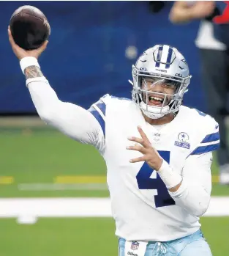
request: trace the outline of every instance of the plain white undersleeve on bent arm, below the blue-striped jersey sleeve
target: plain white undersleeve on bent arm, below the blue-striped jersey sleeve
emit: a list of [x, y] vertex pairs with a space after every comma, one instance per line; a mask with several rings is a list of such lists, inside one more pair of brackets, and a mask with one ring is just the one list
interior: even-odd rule
[[212, 152], [187, 158], [182, 171], [182, 183], [170, 196], [181, 208], [193, 216], [202, 216], [211, 199]]

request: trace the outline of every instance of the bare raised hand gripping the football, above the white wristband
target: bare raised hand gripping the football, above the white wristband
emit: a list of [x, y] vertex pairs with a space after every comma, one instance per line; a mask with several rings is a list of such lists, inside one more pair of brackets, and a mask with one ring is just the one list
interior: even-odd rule
[[26, 51], [23, 48], [20, 48], [20, 46], [18, 46], [15, 43], [15, 40], [13, 39], [11, 31], [10, 31], [10, 26], [8, 26], [8, 35], [9, 35], [9, 41], [10, 41], [10, 45], [12, 47], [12, 51], [15, 53], [15, 55], [17, 56], [18, 59], [23, 59], [24, 57], [27, 57], [27, 56], [35, 57], [36, 59], [38, 59], [40, 54], [42, 54], [42, 52], [45, 51], [45, 48], [48, 45], [48, 41], [46, 40], [45, 43], [43, 43], [40, 46], [40, 48], [31, 50], [31, 51]]

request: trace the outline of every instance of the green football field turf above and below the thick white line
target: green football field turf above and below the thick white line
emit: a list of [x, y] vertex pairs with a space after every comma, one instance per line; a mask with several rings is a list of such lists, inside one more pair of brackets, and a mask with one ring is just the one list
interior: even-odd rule
[[[0, 197], [108, 197], [105, 162], [93, 147], [48, 128], [1, 128]], [[229, 196], [212, 168], [212, 195]], [[1, 198], [0, 198], [1, 200]], [[0, 210], [1, 211], [1, 210]], [[214, 256], [229, 254], [229, 216], [201, 218]], [[0, 218], [0, 256], [115, 256], [111, 218]]]

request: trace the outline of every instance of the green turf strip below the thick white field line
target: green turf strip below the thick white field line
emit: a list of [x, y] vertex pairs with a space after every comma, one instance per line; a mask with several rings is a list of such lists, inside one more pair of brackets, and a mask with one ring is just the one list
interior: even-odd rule
[[[228, 255], [229, 218], [206, 217], [201, 222], [213, 255]], [[0, 219], [0, 255], [118, 256], [114, 231], [111, 218], [40, 219], [33, 225]]]

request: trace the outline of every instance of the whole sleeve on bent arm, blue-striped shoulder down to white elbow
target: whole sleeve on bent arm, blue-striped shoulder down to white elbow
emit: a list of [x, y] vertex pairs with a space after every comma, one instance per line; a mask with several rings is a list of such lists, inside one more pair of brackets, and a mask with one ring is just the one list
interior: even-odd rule
[[212, 151], [219, 148], [219, 125], [208, 115], [196, 119], [195, 147], [187, 156], [181, 173], [181, 186], [170, 196], [181, 208], [193, 216], [202, 216], [211, 198]]

